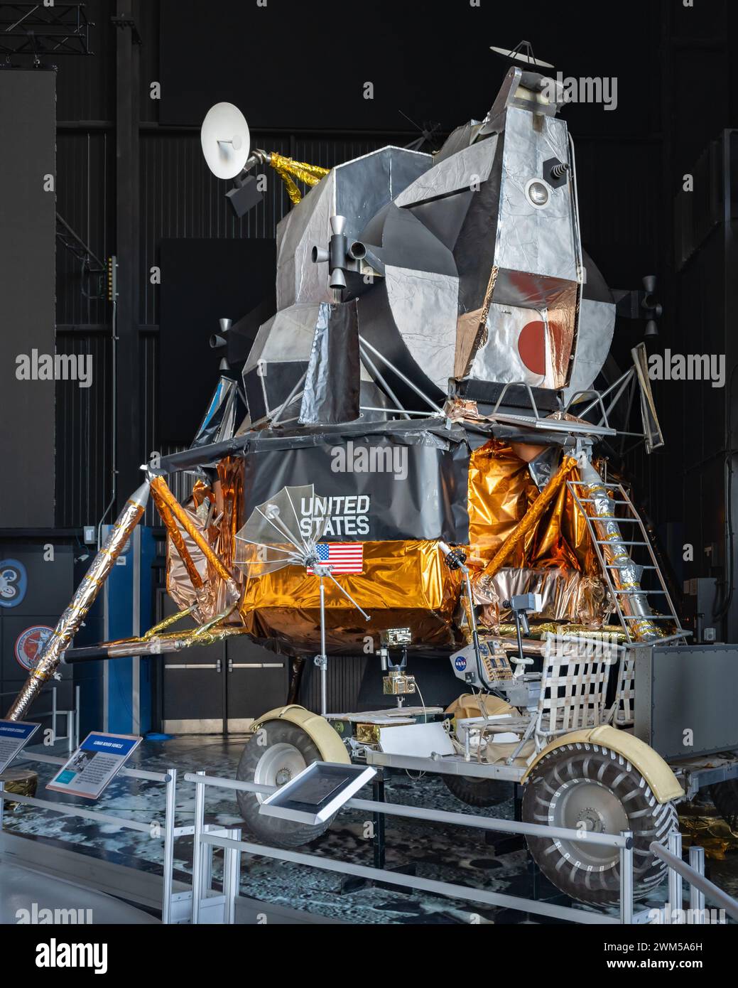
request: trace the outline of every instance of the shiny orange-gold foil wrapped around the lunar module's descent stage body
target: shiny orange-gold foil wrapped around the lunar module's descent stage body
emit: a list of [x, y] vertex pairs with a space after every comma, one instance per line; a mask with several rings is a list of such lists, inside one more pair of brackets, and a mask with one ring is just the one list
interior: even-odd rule
[[[201, 483], [189, 506], [180, 508], [190, 528], [198, 532], [199, 542], [188, 531], [182, 537], [210, 594], [208, 608], [198, 609], [199, 620], [222, 613], [229, 603], [228, 583], [209, 564], [201, 542], [206, 540], [222, 568], [229, 574], [234, 571], [236, 533], [244, 521], [243, 475], [241, 458], [221, 460], [212, 488]], [[468, 563], [483, 627], [510, 633], [501, 603], [528, 589], [543, 593], [544, 617], [551, 622], [590, 629], [603, 626], [609, 604], [586, 522], [566, 486], [571, 476], [578, 474], [576, 461], [569, 457], [539, 492], [526, 459], [510, 446], [491, 440], [471, 453]], [[158, 495], [158, 483], [155, 490]], [[413, 642], [430, 649], [463, 641], [468, 628], [465, 596], [458, 574], [446, 567], [436, 541], [365, 542], [364, 558], [362, 574], [342, 575], [339, 580], [369, 613], [369, 623], [335, 587], [326, 585], [331, 651], [366, 653], [388, 627], [409, 627]], [[296, 566], [250, 580], [236, 572], [241, 589], [238, 611], [223, 620], [233, 623], [240, 618], [254, 637], [280, 651], [314, 652], [320, 639], [318, 581]], [[181, 608], [197, 604], [171, 539], [167, 586]]]

